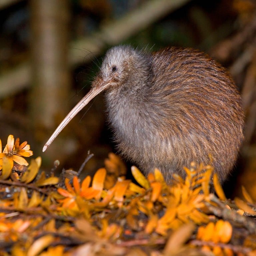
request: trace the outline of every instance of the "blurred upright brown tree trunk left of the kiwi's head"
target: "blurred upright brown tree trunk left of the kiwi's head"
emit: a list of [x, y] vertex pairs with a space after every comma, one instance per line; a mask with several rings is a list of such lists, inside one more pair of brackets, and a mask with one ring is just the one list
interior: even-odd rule
[[69, 3], [68, 0], [30, 0], [30, 11], [32, 90], [29, 111], [32, 125], [38, 131], [52, 129], [68, 111]]

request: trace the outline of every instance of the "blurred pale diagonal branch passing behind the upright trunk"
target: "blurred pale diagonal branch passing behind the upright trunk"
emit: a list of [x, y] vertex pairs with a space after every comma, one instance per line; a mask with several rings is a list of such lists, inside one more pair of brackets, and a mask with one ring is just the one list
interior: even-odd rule
[[[31, 9], [32, 3], [35, 2], [35, 5], [39, 1], [30, 0]], [[134, 35], [142, 29], [150, 26], [152, 23], [164, 17], [166, 14], [184, 6], [189, 1], [190, 0], [144, 1], [139, 7], [126, 13], [123, 17], [104, 24], [99, 30], [95, 31], [91, 35], [87, 35], [86, 37], [73, 41], [69, 49], [69, 64], [77, 65], [81, 62], [86, 63], [87, 61], [91, 61], [91, 55], [89, 54], [85, 55], [84, 58], [81, 58], [81, 54], [78, 54], [79, 50], [86, 49], [88, 52], [93, 52], [93, 56], [96, 57], [102, 52], [103, 49], [106, 48], [106, 46], [119, 44], [123, 40], [129, 38], [129, 36]], [[51, 4], [51, 1], [48, 0], [40, 1], [41, 4], [48, 2]], [[53, 2], [56, 1], [54, 0]], [[66, 5], [67, 0], [59, 2], [62, 4], [59, 7], [63, 8], [63, 6]], [[38, 3], [37, 6], [39, 6]], [[35, 9], [35, 7], [33, 8]], [[64, 34], [62, 34], [62, 36], [64, 36]], [[35, 58], [37, 58], [36, 51]], [[9, 70], [9, 72], [1, 74], [0, 99], [16, 94], [18, 91], [21, 91], [28, 86], [30, 86], [29, 63], [24, 62]]]

